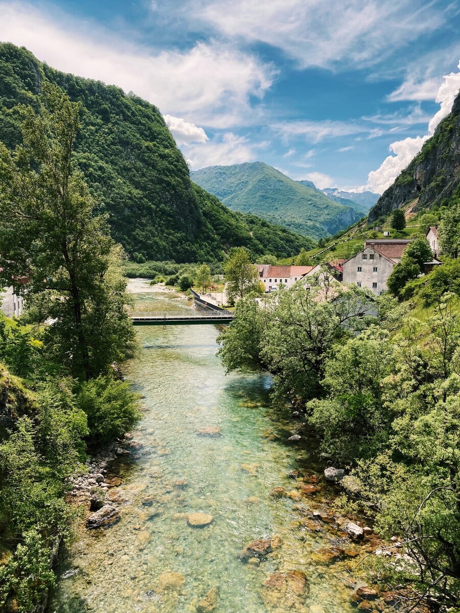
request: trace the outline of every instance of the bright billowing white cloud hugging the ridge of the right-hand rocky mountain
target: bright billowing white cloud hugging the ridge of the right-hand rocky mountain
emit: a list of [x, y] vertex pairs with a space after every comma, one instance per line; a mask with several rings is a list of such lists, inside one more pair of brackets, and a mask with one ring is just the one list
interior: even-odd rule
[[[458, 67], [460, 69], [460, 62]], [[434, 133], [439, 122], [450, 113], [453, 101], [460, 89], [460, 72], [451, 72], [443, 78], [444, 81], [436, 94], [436, 102], [440, 104], [440, 109], [429, 121], [428, 134], [391, 143], [389, 150], [394, 155], [389, 155], [377, 170], [369, 173], [367, 184], [359, 188], [359, 191], [370, 189], [383, 193], [421, 150], [423, 143]]]

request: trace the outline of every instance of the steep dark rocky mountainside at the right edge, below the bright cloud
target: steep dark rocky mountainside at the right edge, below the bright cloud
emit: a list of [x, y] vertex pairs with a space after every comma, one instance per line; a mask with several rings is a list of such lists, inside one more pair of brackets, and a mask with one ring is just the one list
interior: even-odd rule
[[460, 197], [460, 93], [452, 110], [369, 211], [369, 221], [410, 204], [413, 211]]

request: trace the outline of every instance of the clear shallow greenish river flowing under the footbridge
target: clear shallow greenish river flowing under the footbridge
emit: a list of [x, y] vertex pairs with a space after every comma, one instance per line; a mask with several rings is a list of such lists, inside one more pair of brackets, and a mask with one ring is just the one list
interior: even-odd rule
[[[138, 310], [192, 308], [146, 281], [131, 281], [130, 289]], [[142, 349], [123, 370], [142, 395], [144, 414], [134, 432], [142, 449], [118, 467], [121, 520], [106, 530], [79, 530], [48, 610], [351, 611], [351, 558], [328, 565], [315, 554], [339, 541], [343, 546], [343, 535], [327, 523], [309, 530], [299, 513], [324, 508], [329, 486], [301, 502], [270, 495], [274, 487], [289, 492], [299, 485], [289, 471], [308, 476], [324, 468], [314, 440], [286, 443], [297, 423], [270, 404], [270, 377], [226, 375], [216, 356], [217, 326], [146, 326], [137, 334]], [[207, 426], [220, 428], [221, 436], [198, 436]], [[191, 527], [190, 512], [210, 514], [212, 523]], [[246, 544], [274, 536], [281, 544], [263, 562], [240, 559]], [[305, 588], [302, 580], [297, 589], [292, 571], [301, 571]], [[285, 600], [264, 595], [270, 576], [277, 589], [288, 586]]]

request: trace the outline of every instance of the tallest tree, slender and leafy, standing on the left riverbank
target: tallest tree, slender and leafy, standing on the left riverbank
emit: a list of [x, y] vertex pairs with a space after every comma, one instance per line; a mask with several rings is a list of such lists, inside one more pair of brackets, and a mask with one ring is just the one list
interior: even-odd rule
[[19, 106], [23, 143], [0, 143], [0, 267], [37, 321], [45, 349], [90, 379], [134, 338], [125, 310], [121, 248], [75, 167], [80, 104], [43, 83], [39, 112]]

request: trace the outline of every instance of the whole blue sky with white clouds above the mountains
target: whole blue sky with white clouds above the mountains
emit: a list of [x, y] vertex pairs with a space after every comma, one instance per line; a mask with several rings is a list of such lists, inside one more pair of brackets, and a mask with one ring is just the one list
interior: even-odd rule
[[450, 112], [459, 32], [459, 0], [0, 0], [0, 40], [155, 104], [191, 169], [378, 193]]

